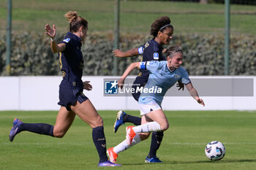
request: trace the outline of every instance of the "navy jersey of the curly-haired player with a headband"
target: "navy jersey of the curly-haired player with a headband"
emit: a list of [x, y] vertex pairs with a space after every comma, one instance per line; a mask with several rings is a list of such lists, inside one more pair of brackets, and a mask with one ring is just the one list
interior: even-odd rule
[[[165, 61], [165, 56], [162, 55], [162, 46], [159, 45], [154, 39], [146, 42], [143, 45], [143, 58], [142, 61]], [[145, 69], [140, 69], [143, 77], [148, 77], [149, 72]]]

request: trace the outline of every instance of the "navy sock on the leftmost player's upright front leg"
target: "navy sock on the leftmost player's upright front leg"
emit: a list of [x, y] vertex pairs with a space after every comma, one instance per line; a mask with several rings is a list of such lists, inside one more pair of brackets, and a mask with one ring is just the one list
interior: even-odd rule
[[103, 126], [98, 126], [92, 129], [92, 139], [94, 140], [94, 145], [99, 154], [99, 162], [108, 161], [108, 156], [106, 154], [106, 139]]

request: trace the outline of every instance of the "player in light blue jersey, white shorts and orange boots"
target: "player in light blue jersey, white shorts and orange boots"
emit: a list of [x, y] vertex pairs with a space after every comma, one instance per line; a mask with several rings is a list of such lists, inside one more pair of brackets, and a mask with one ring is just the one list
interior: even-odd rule
[[[147, 47], [145, 47], [146, 50]], [[118, 153], [129, 149], [129, 147], [148, 139], [151, 132], [166, 131], [169, 123], [165, 113], [162, 111], [162, 100], [169, 88], [181, 80], [186, 85], [190, 95], [195, 100], [205, 106], [203, 100], [198, 96], [197, 90], [193, 87], [189, 79], [187, 70], [181, 67], [183, 52], [179, 47], [167, 49], [167, 61], [144, 61], [129, 65], [127, 70], [118, 80], [118, 87], [122, 88], [124, 80], [135, 68], [148, 70], [150, 72], [148, 82], [138, 100], [140, 115], [142, 116], [141, 125], [128, 126], [126, 139], [116, 147], [108, 149], [110, 161], [115, 163]], [[147, 90], [157, 88], [156, 93], [146, 93]]]

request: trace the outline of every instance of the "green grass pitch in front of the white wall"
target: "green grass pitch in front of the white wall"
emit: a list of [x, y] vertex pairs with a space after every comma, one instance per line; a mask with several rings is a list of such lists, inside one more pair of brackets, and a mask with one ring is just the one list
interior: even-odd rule
[[[132, 112], [139, 115], [139, 112]], [[200, 111], [165, 112], [170, 128], [165, 131], [157, 152], [163, 163], [146, 164], [151, 140], [141, 142], [121, 152], [117, 169], [255, 169], [256, 112]], [[116, 111], [99, 111], [105, 123], [108, 147], [124, 140], [125, 127], [113, 133]], [[13, 142], [8, 141], [12, 119], [19, 117], [26, 123], [54, 124], [57, 112], [0, 112], [0, 169], [99, 169], [98, 156], [91, 139], [91, 128], [78, 117], [63, 139], [22, 132]], [[226, 147], [222, 161], [208, 161], [204, 147], [219, 140]], [[104, 169], [104, 168], [103, 168]]]

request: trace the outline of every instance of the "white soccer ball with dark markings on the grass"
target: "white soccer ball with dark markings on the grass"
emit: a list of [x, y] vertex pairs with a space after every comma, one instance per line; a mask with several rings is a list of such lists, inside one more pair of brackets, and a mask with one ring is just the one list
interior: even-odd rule
[[221, 160], [225, 156], [225, 146], [222, 142], [212, 141], [206, 145], [206, 157], [211, 159], [211, 161]]

